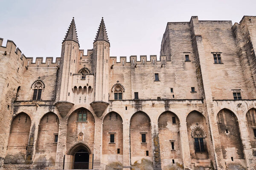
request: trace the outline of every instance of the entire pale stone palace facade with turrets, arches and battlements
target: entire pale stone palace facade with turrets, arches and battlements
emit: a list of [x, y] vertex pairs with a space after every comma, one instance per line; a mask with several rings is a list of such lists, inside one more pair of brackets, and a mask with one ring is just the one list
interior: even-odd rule
[[87, 55], [74, 19], [55, 62], [33, 63], [13, 41], [2, 42], [1, 162], [256, 167], [255, 16], [234, 25], [194, 16], [167, 23], [160, 60], [110, 57], [103, 18]]

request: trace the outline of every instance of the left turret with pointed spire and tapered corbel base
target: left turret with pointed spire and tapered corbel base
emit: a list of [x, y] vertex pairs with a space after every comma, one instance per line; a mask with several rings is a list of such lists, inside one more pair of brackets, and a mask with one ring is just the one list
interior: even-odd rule
[[[65, 116], [69, 109], [73, 106], [71, 103], [71, 92], [73, 74], [76, 73], [78, 67], [77, 57], [79, 55], [79, 41], [76, 33], [76, 24], [73, 20], [67, 30], [67, 34], [62, 42], [61, 64], [58, 75], [58, 93], [57, 103], [55, 104], [59, 112]], [[62, 107], [65, 106], [65, 108]], [[61, 110], [60, 110], [61, 109]]]

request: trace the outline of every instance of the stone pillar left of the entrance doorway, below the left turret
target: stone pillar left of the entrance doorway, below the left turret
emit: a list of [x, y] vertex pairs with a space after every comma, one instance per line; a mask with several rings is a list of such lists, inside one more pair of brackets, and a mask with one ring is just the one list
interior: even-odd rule
[[63, 162], [64, 155], [66, 153], [66, 140], [67, 140], [67, 120], [59, 118], [59, 132], [58, 132], [58, 144], [56, 150], [56, 162]]

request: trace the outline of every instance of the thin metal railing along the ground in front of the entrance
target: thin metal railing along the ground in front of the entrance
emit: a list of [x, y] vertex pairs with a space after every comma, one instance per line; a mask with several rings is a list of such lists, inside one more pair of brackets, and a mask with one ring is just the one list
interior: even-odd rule
[[100, 162], [34, 162], [34, 163], [3, 163], [0, 170], [120, 170]]

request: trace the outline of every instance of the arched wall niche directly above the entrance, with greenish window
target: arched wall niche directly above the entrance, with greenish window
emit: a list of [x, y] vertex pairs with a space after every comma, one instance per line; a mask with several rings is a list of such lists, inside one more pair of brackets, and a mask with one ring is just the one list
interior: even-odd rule
[[[93, 114], [88, 109], [81, 107], [72, 112], [67, 121], [67, 148], [72, 147], [78, 141], [93, 148], [95, 131], [94, 123], [95, 120]], [[82, 137], [81, 133], [83, 134]]]

